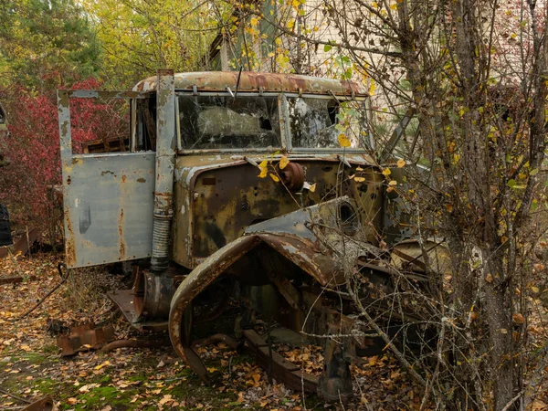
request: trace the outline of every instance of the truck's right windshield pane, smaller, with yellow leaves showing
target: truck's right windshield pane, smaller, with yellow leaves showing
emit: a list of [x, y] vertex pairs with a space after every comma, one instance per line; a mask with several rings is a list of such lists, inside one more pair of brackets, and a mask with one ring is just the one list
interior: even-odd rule
[[350, 148], [364, 148], [368, 134], [363, 101], [289, 98], [291, 145], [295, 148], [341, 148], [339, 135]]

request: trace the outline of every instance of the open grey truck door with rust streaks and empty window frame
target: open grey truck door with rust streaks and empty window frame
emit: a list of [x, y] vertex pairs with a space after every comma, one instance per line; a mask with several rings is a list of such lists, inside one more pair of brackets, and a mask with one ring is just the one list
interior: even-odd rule
[[148, 258], [152, 254], [155, 153], [72, 152], [72, 98], [130, 99], [132, 130], [140, 92], [58, 90], [63, 174], [66, 263], [68, 268]]

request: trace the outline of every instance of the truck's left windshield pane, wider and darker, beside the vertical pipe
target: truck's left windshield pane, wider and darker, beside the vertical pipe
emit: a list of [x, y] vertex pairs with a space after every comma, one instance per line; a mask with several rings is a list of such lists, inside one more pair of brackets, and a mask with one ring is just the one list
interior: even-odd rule
[[279, 148], [276, 97], [179, 96], [184, 150]]

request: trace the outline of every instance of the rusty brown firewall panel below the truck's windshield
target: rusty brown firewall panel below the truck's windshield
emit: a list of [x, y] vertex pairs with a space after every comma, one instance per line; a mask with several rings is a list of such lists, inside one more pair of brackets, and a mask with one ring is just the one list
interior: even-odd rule
[[[277, 163], [280, 156], [272, 160]], [[204, 155], [179, 156], [175, 164], [174, 187], [174, 261], [187, 268], [241, 236], [246, 227], [269, 218], [282, 216], [301, 206], [320, 204], [325, 199], [351, 195], [359, 199], [365, 237], [375, 243], [382, 217], [380, 190], [383, 175], [360, 154], [347, 157], [351, 168], [364, 181], [348, 179], [341, 183], [341, 163], [336, 154], [289, 155], [292, 163], [306, 167], [306, 179], [316, 190], [292, 194], [283, 184], [259, 178], [258, 168], [267, 156]], [[361, 167], [363, 170], [359, 171]], [[346, 177], [348, 178], [348, 177]], [[340, 189], [336, 187], [340, 186]]]

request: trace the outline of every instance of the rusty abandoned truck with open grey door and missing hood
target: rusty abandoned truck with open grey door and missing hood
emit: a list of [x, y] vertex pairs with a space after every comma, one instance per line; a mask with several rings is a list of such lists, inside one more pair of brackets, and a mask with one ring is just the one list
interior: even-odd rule
[[[76, 98], [129, 100], [121, 150], [73, 153]], [[415, 241], [380, 247], [388, 184], [364, 149], [366, 100], [350, 81], [251, 72], [58, 90], [68, 268], [138, 260], [132, 290], [111, 299], [134, 326], [169, 330], [205, 382], [196, 341], [247, 342], [278, 381], [349, 398], [349, 364], [386, 345], [360, 312], [385, 310], [406, 266], [426, 281]], [[393, 338], [403, 318], [391, 318]], [[323, 345], [320, 378], [272, 350], [276, 327]]]

